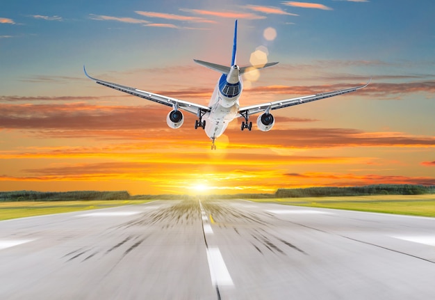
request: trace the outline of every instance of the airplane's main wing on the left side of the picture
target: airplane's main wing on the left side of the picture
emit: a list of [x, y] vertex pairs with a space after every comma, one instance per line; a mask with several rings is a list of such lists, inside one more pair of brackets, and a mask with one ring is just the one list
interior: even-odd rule
[[137, 97], [144, 98], [146, 100], [150, 100], [152, 102], [157, 102], [166, 106], [177, 106], [179, 109], [182, 109], [184, 111], [188, 111], [189, 113], [194, 113], [195, 115], [199, 116], [199, 113], [202, 114], [210, 111], [210, 107], [195, 104], [188, 101], [179, 100], [172, 97], [167, 97], [163, 95], [158, 95], [155, 93], [147, 92], [146, 90], [139, 90], [138, 88], [131, 88], [129, 86], [122, 86], [120, 84], [113, 84], [108, 81], [100, 80], [94, 77], [90, 77], [88, 72], [86, 72], [85, 66], [83, 65], [83, 70], [85, 71], [85, 75], [89, 78], [95, 81], [97, 84], [101, 84], [102, 86], [108, 86], [109, 88], [114, 88], [115, 90], [120, 90], [121, 92], [134, 95]]

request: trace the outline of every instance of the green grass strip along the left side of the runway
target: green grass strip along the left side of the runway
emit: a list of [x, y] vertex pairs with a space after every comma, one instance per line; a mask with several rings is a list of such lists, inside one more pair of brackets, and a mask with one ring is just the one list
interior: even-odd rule
[[0, 221], [24, 218], [26, 216], [42, 216], [62, 212], [79, 212], [122, 205], [136, 205], [151, 200], [86, 200], [86, 201], [25, 201], [0, 202]]

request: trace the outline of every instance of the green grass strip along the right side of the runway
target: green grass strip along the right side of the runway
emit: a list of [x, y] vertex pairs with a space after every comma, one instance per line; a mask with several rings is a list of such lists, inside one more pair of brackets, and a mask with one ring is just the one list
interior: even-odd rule
[[435, 216], [435, 194], [249, 200], [305, 207], [334, 208], [337, 210], [358, 210], [361, 212], [382, 212], [387, 214], [407, 214], [411, 216]]

